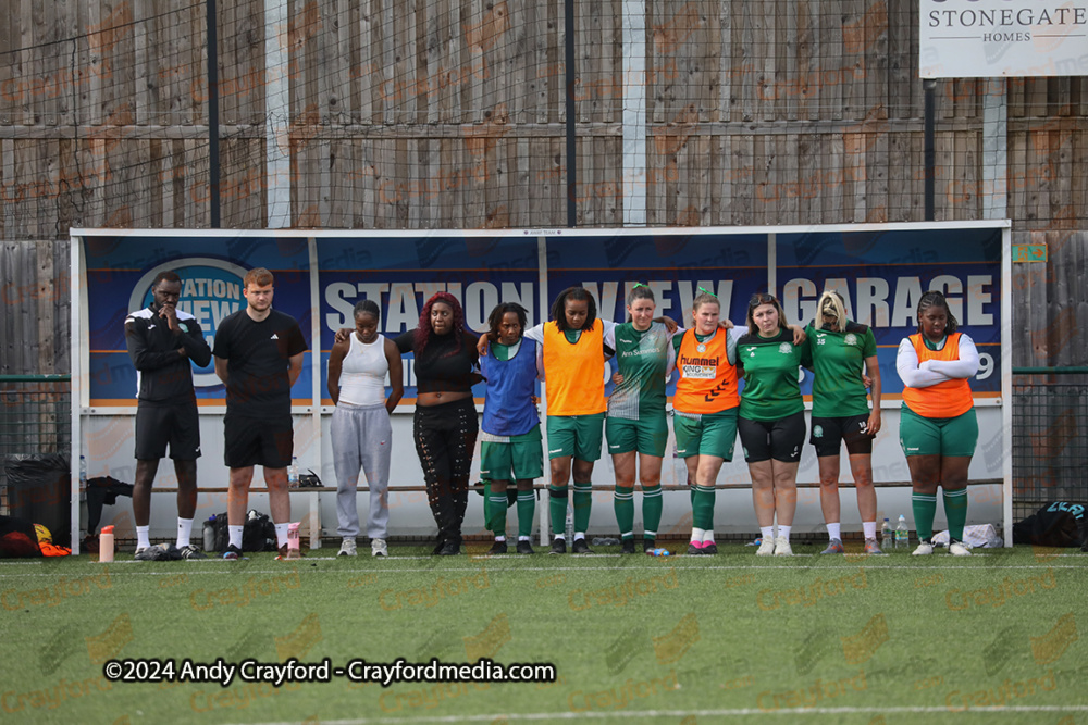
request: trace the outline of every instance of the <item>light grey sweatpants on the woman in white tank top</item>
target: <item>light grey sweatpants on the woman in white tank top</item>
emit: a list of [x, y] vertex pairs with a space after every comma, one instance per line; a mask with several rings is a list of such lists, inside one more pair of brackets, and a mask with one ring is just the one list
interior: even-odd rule
[[370, 486], [367, 536], [386, 538], [390, 522], [390, 458], [393, 426], [385, 405], [349, 408], [337, 405], [332, 424], [333, 467], [336, 471], [336, 533], [359, 536], [357, 504], [359, 471]]

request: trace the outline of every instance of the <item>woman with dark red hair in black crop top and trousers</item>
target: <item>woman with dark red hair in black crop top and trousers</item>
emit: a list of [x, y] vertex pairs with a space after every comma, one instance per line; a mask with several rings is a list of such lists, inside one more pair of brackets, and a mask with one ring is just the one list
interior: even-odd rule
[[436, 292], [423, 305], [419, 326], [396, 338], [400, 352], [416, 353], [416, 417], [412, 433], [423, 467], [426, 500], [438, 525], [434, 553], [460, 553], [468, 505], [472, 450], [480, 425], [472, 402], [477, 337], [465, 329], [461, 304]]

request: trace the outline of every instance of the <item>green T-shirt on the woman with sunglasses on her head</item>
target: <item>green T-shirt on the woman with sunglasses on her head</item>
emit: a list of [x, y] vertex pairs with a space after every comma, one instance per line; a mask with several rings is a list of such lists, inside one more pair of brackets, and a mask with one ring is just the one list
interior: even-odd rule
[[805, 409], [798, 384], [798, 366], [812, 365], [807, 346], [793, 345], [793, 333], [770, 339], [749, 333], [737, 340], [737, 366], [744, 371], [740, 416], [778, 421]]

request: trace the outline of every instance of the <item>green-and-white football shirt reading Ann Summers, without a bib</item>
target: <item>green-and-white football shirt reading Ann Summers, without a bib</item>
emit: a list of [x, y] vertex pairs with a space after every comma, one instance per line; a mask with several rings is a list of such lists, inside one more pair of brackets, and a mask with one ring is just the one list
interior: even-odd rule
[[669, 332], [659, 322], [640, 333], [634, 323], [616, 325], [616, 362], [623, 382], [608, 398], [608, 417], [641, 421], [665, 412]]

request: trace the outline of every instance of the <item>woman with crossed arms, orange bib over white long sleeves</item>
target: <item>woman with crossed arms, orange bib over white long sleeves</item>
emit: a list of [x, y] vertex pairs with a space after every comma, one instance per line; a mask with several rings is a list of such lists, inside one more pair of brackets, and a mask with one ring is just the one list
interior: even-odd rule
[[918, 332], [899, 345], [895, 368], [903, 380], [899, 442], [911, 468], [912, 508], [918, 529], [914, 555], [934, 552], [937, 486], [943, 488], [949, 553], [968, 557], [967, 468], [978, 441], [978, 421], [967, 379], [978, 372], [978, 351], [944, 296], [929, 291], [918, 301]]

